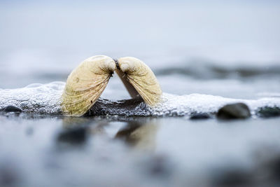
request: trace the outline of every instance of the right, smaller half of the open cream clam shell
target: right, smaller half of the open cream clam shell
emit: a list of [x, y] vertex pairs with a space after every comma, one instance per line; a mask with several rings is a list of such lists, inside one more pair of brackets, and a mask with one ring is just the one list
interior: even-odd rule
[[161, 101], [162, 90], [153, 71], [135, 57], [121, 57], [116, 61], [116, 73], [132, 98], [141, 97], [149, 106]]

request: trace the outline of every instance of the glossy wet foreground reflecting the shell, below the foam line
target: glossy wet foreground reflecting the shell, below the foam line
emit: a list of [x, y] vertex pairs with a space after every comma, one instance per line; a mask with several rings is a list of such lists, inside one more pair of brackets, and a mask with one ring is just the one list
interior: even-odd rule
[[1, 186], [274, 186], [280, 180], [279, 118], [6, 113], [0, 122]]

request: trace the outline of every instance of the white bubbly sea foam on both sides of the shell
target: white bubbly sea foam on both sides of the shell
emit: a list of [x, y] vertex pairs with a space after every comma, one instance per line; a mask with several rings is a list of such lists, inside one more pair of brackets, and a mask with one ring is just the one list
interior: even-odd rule
[[[64, 82], [52, 82], [48, 84], [31, 84], [25, 88], [0, 90], [0, 109], [12, 105], [27, 113], [59, 114], [60, 97], [64, 86]], [[127, 111], [127, 113], [130, 113], [130, 116], [147, 115], [147, 112], [151, 116], [188, 116], [190, 113], [214, 113], [225, 104], [235, 102], [247, 104], [252, 114], [260, 107], [280, 107], [279, 97], [231, 99], [214, 95], [190, 94], [179, 96], [164, 93], [162, 99], [162, 104], [156, 107], [148, 110], [137, 107], [132, 111]], [[118, 110], [114, 109], [110, 113], [118, 115]]]

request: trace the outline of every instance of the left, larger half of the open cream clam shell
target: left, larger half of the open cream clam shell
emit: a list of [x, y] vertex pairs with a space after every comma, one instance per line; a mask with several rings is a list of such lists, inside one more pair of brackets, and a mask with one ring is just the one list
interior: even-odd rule
[[65, 116], [83, 116], [100, 97], [116, 69], [111, 57], [89, 57], [73, 69], [62, 94], [62, 112]]

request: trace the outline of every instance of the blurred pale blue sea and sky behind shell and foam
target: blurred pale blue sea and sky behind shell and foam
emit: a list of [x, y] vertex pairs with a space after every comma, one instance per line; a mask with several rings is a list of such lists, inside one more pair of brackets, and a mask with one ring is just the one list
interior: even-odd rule
[[[0, 88], [66, 81], [81, 61], [102, 54], [143, 60], [164, 92], [276, 95], [279, 8], [273, 0], [1, 0]], [[111, 95], [124, 90], [115, 79], [104, 97], [128, 98]]]

